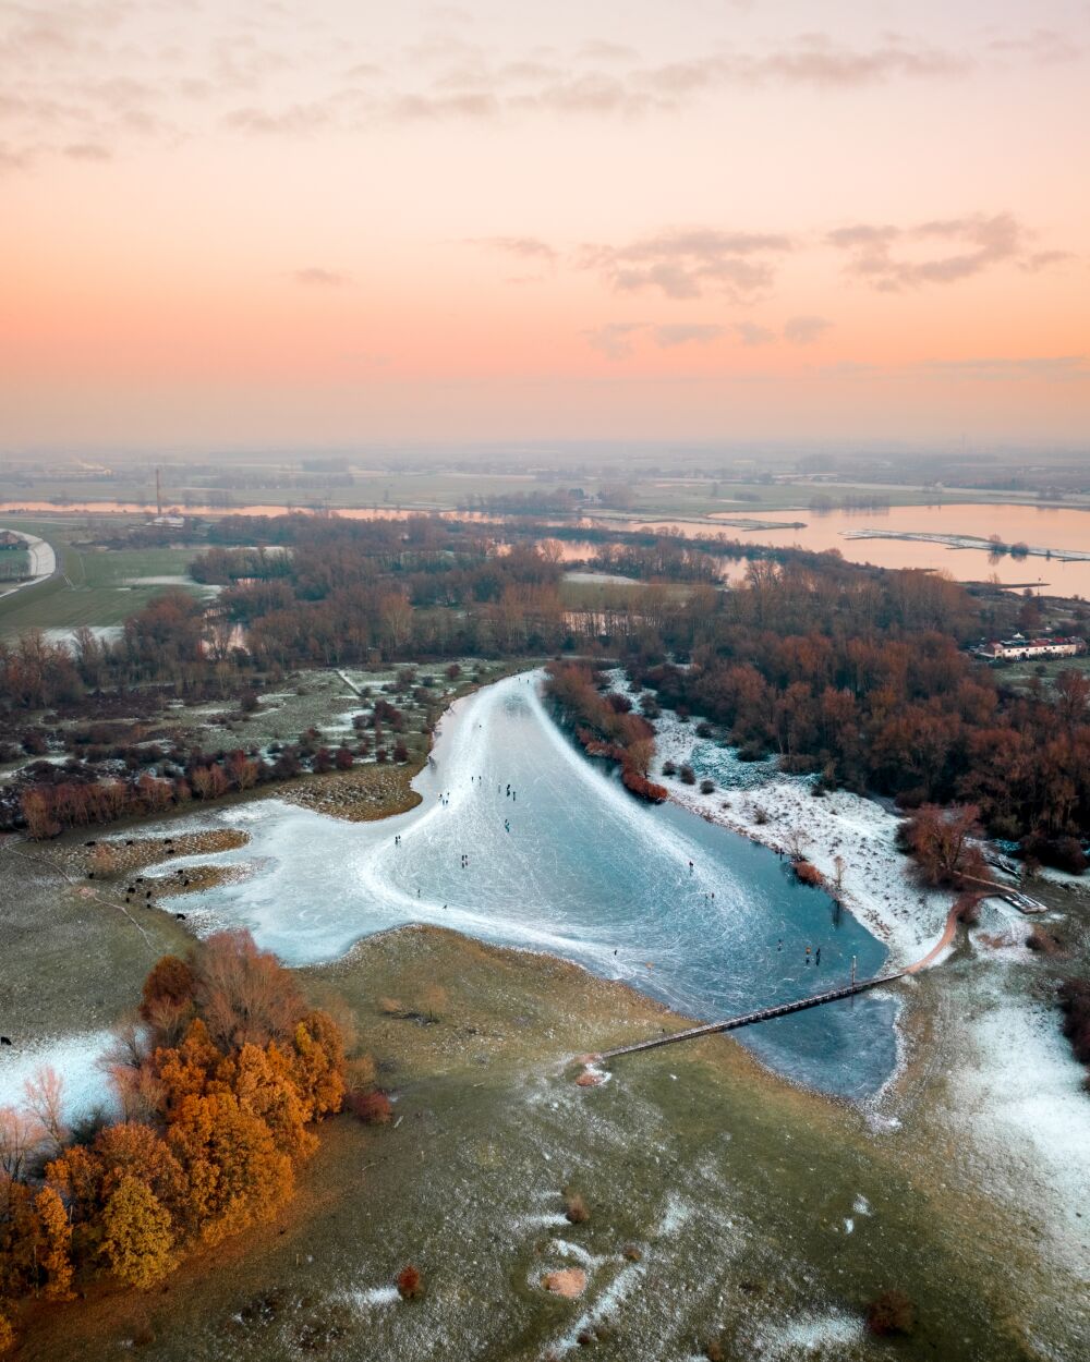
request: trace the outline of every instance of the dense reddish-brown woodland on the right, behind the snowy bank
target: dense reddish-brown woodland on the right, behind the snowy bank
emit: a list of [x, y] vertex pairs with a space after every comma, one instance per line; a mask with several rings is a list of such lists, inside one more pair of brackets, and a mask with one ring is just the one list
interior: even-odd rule
[[635, 681], [664, 706], [721, 725], [744, 756], [905, 808], [973, 805], [1025, 854], [1086, 865], [1090, 682], [1071, 670], [1053, 695], [1004, 688], [963, 648], [1003, 605], [932, 573], [771, 564], [706, 605], [699, 621], [683, 610], [623, 640]]

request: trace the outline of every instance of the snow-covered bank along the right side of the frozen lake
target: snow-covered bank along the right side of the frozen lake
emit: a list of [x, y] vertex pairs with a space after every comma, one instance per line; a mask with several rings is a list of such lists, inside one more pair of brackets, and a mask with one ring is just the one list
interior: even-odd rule
[[[847, 791], [815, 797], [808, 779], [737, 763], [669, 712], [657, 720], [657, 757], [717, 771], [713, 794], [662, 778], [683, 808], [785, 855], [801, 846], [830, 884], [839, 874], [843, 906], [887, 943], [892, 967], [939, 938], [951, 893], [914, 881], [895, 844], [899, 820], [879, 802]], [[898, 990], [902, 1068], [873, 1115], [877, 1129], [899, 1126], [922, 1102], [946, 1132], [947, 1156], [992, 1188], [1021, 1235], [1049, 1261], [1090, 1275], [1090, 1095], [1055, 1001], [1057, 978], [1090, 952], [1090, 887], [1067, 876], [1059, 891], [1045, 881], [1034, 892], [1048, 899], [1045, 921], [1064, 943], [1059, 957], [1030, 951], [1031, 923], [985, 900], [980, 925], [962, 929], [929, 967], [943, 968]]]

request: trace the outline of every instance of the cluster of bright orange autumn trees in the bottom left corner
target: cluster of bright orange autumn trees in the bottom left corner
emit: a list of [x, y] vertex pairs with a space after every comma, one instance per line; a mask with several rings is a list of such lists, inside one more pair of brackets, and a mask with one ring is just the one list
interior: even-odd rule
[[147, 1290], [271, 1219], [341, 1110], [345, 1038], [245, 932], [165, 956], [108, 1057], [119, 1118], [74, 1136], [49, 1069], [0, 1110], [0, 1351], [20, 1302], [102, 1276]]

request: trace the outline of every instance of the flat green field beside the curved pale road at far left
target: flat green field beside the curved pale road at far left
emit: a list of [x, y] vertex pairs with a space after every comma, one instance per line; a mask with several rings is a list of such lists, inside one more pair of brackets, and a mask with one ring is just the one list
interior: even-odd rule
[[76, 629], [117, 625], [169, 590], [170, 582], [199, 591], [188, 577], [196, 549], [87, 548], [86, 526], [76, 520], [4, 520], [0, 528], [25, 530], [46, 539], [57, 556], [57, 573], [0, 599], [0, 635], [25, 629]]

